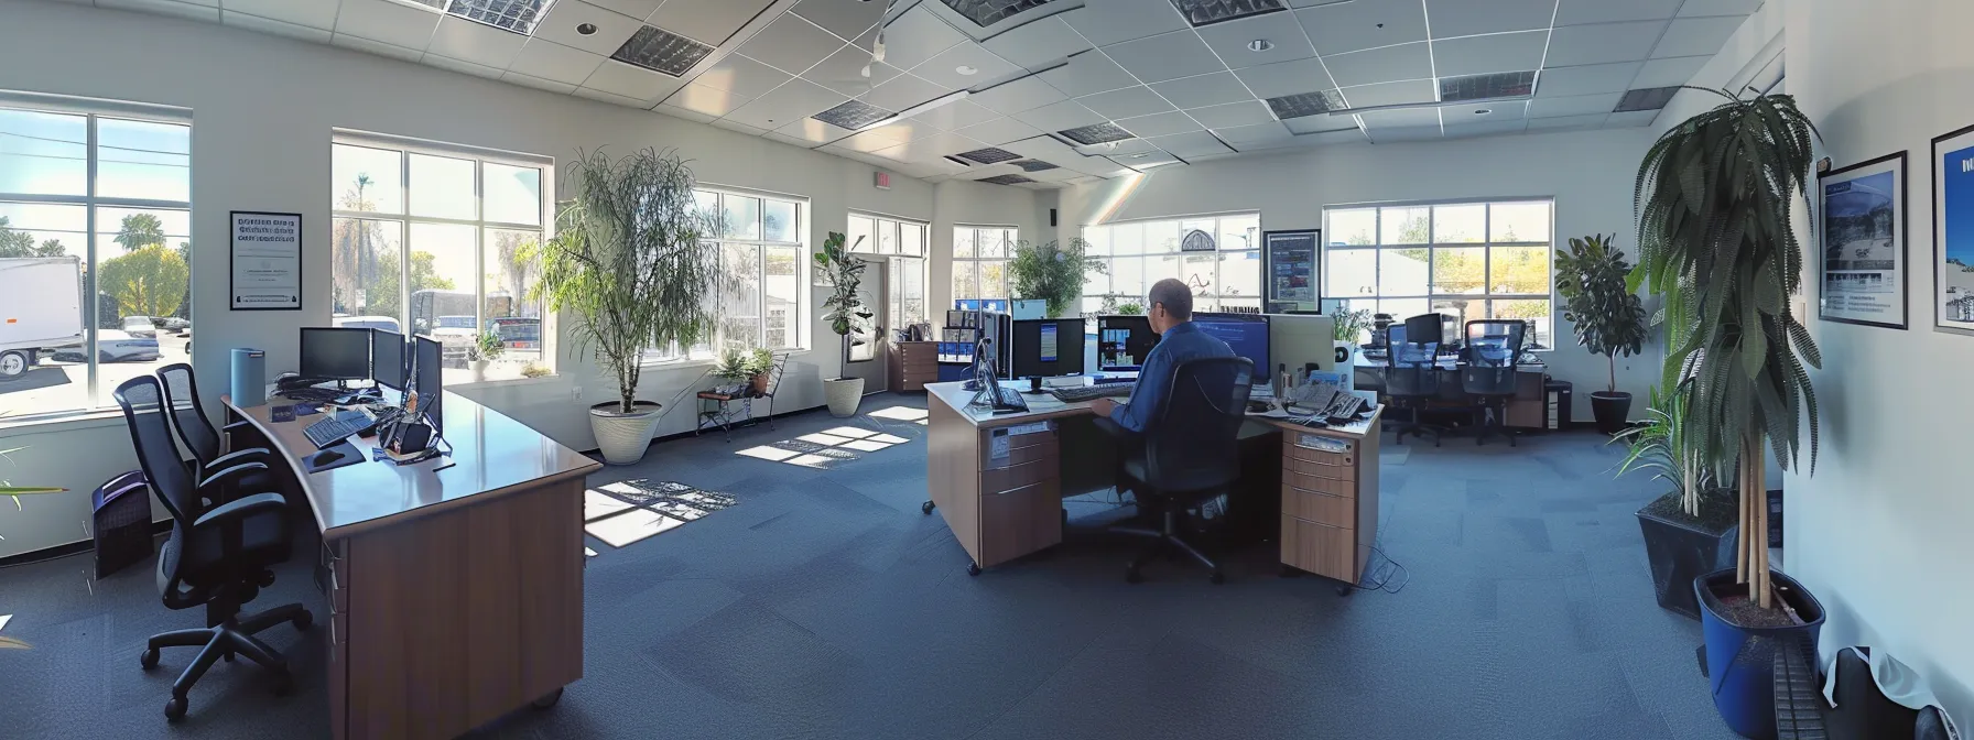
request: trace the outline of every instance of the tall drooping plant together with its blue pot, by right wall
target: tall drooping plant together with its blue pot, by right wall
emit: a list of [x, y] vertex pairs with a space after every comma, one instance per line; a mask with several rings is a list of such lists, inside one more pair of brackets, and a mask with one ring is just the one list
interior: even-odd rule
[[[1664, 377], [1692, 377], [1688, 432], [1708, 464], [1735, 472], [1735, 566], [1694, 580], [1713, 706], [1735, 732], [1775, 736], [1775, 649], [1816, 649], [1822, 604], [1769, 570], [1767, 452], [1788, 470], [1822, 355], [1796, 320], [1816, 126], [1788, 95], [1735, 97], [1666, 130], [1638, 164], [1640, 274], [1672, 328]], [[1668, 383], [1670, 385], [1670, 383]], [[1814, 653], [1812, 653], [1814, 655]]]

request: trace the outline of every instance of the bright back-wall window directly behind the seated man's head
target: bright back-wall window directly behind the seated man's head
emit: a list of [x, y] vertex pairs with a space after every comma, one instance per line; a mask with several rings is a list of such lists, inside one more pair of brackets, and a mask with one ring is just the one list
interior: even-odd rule
[[1192, 310], [1261, 310], [1261, 217], [1257, 213], [1129, 221], [1084, 227], [1090, 255], [1109, 266], [1084, 278], [1084, 312], [1143, 308], [1153, 282], [1192, 286]]

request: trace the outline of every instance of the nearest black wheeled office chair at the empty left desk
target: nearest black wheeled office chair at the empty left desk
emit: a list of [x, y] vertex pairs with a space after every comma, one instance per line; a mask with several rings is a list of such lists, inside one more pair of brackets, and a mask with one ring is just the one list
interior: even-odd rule
[[249, 616], [239, 612], [241, 604], [261, 594], [261, 588], [274, 584], [268, 566], [288, 560], [288, 501], [280, 493], [249, 493], [225, 503], [201, 503], [201, 497], [219, 501], [221, 485], [266, 470], [266, 464], [243, 462], [195, 481], [178, 456], [166, 414], [160, 412], [164, 391], [156, 377], [136, 377], [118, 385], [116, 405], [122, 407], [124, 424], [130, 426], [130, 444], [136, 446], [144, 478], [172, 513], [172, 539], [158, 551], [158, 590], [164, 594], [164, 606], [172, 610], [205, 606], [205, 629], [174, 629], [144, 643], [140, 665], [146, 671], [158, 667], [162, 647], [201, 645], [186, 673], [172, 681], [164, 716], [170, 720], [186, 716], [186, 695], [191, 685], [215, 661], [221, 657], [231, 661], [235, 653], [268, 669], [274, 693], [286, 693], [294, 685], [288, 661], [255, 633], [280, 622], [308, 629], [314, 616], [302, 604]]

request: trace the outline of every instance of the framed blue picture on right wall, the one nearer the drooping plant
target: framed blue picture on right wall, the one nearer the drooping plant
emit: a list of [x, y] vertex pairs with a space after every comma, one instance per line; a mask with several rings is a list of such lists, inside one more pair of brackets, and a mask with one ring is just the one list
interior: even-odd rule
[[1824, 322], [1907, 328], [1905, 152], [1824, 172]]

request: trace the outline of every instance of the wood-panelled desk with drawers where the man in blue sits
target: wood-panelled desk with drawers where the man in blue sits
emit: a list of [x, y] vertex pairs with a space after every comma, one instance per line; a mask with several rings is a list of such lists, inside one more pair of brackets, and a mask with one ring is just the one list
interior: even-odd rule
[[[1092, 416], [1090, 403], [1026, 397], [1028, 412], [969, 412], [965, 383], [926, 385], [926, 485], [946, 527], [981, 568], [1062, 543], [1064, 478], [1088, 474], [1062, 454], [1062, 422]], [[1358, 582], [1378, 541], [1378, 434], [1384, 407], [1368, 420], [1309, 428], [1250, 416], [1281, 432], [1281, 562]]]

